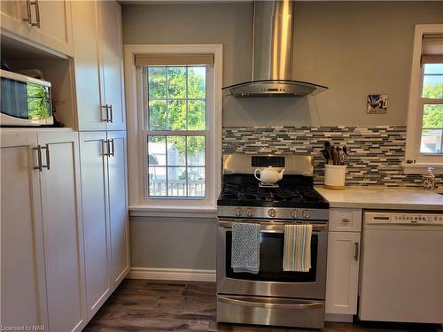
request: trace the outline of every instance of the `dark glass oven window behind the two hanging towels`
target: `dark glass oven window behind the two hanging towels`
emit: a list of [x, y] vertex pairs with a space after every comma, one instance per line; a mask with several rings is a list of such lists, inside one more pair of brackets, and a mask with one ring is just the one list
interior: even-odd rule
[[311, 238], [311, 269], [309, 272], [283, 270], [284, 233], [260, 234], [260, 270], [258, 274], [235, 273], [231, 265], [232, 232], [226, 232], [226, 276], [262, 282], [315, 282], [318, 235]]

